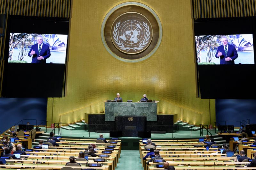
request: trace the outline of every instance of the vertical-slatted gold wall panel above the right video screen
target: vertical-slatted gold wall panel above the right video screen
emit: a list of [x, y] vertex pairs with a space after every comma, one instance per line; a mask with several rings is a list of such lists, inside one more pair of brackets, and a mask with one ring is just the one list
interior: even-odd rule
[[254, 17], [256, 0], [193, 0], [194, 18]]

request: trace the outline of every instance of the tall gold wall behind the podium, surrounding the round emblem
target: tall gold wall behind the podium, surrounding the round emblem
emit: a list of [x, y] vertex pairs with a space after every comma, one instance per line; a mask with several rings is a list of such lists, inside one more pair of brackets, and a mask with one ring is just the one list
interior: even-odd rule
[[[215, 102], [196, 98], [196, 71], [190, 0], [138, 0], [153, 9], [163, 27], [162, 42], [147, 60], [127, 63], [103, 46], [101, 23], [125, 0], [75, 0], [71, 9], [66, 97], [49, 98], [47, 120], [75, 122], [84, 113], [104, 111], [104, 100], [120, 93], [139, 101], [143, 94], [156, 99], [159, 112], [178, 114], [195, 124], [214, 124]], [[211, 117], [211, 118], [210, 118]]]

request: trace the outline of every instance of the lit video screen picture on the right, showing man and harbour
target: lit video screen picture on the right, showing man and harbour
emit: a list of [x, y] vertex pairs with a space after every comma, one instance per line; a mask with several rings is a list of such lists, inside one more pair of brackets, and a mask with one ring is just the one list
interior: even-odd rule
[[197, 64], [254, 64], [253, 34], [197, 35]]

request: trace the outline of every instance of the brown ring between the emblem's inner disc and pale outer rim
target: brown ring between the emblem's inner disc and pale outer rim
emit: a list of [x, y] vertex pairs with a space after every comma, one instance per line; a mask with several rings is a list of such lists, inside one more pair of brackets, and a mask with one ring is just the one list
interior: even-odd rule
[[[120, 52], [112, 43], [111, 40], [111, 26], [113, 24], [113, 22], [116, 20], [116, 18], [118, 18], [120, 15], [127, 13], [127, 12], [137, 12], [140, 13], [141, 15], [145, 16], [148, 21], [151, 23], [152, 29], [153, 29], [153, 37], [152, 37], [152, 41], [150, 43], [150, 45], [148, 46], [148, 48], [146, 50], [144, 50], [141, 53], [138, 54], [125, 54]], [[147, 9], [138, 6], [138, 5], [127, 5], [127, 6], [122, 6], [118, 9], [116, 9], [115, 11], [112, 12], [112, 14], [108, 17], [105, 27], [104, 27], [104, 38], [106, 41], [106, 44], [108, 46], [108, 48], [114, 53], [116, 54], [118, 57], [121, 57], [123, 59], [126, 60], [137, 60], [140, 58], [143, 58], [145, 56], [147, 56], [152, 50], [154, 50], [158, 39], [159, 39], [159, 26], [157, 23], [156, 18], [154, 17], [154, 15], [148, 11]]]

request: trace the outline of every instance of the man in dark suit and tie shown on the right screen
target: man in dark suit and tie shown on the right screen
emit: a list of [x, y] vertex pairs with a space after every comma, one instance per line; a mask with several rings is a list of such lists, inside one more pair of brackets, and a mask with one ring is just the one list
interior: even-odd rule
[[215, 57], [220, 57], [220, 64], [235, 64], [238, 57], [235, 46], [228, 44], [227, 37], [222, 37], [221, 42], [223, 45], [218, 47]]

